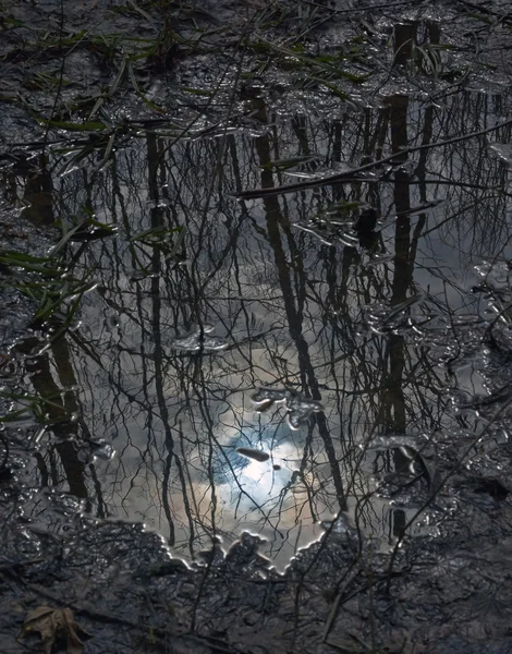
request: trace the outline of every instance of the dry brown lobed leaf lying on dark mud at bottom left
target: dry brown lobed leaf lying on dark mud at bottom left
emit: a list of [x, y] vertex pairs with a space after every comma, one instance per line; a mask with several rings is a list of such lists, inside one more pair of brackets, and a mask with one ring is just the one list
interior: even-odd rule
[[51, 654], [58, 638], [65, 638], [68, 654], [82, 654], [84, 643], [81, 641], [78, 632], [88, 635], [75, 622], [73, 611], [70, 608], [38, 606], [28, 613], [23, 627], [24, 634], [31, 631], [39, 631], [45, 654]]

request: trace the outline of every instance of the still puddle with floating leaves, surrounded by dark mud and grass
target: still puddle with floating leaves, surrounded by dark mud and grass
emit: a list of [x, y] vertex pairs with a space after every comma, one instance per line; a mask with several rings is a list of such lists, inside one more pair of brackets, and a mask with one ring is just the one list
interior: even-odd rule
[[[81, 327], [31, 364], [34, 388], [64, 393], [61, 412], [76, 416], [53, 428], [71, 440], [47, 441], [34, 485], [71, 491], [92, 516], [143, 521], [187, 559], [214, 537], [228, 548], [242, 531], [258, 533], [280, 569], [322, 533], [321, 520], [353, 513], [407, 461], [385, 447], [386, 434], [431, 434], [456, 420], [439, 356], [454, 325], [471, 338], [487, 319], [471, 287], [498, 234], [509, 239], [503, 197], [483, 190], [464, 208], [466, 184], [480, 175], [456, 165], [464, 144], [453, 185], [440, 183], [432, 154], [389, 180], [251, 201], [232, 194], [242, 180], [280, 185], [271, 158], [315, 152], [329, 168], [332, 153], [365, 152], [377, 128], [389, 153], [425, 145], [449, 114], [479, 116], [478, 99], [455, 97], [439, 110], [400, 96], [364, 113], [366, 136], [361, 116], [348, 114], [345, 150], [337, 121], [269, 108], [273, 132], [257, 137], [169, 148], [168, 137], [143, 133], [88, 199], [86, 168], [54, 179], [61, 219], [83, 215], [87, 202], [95, 229], [110, 227], [87, 247], [70, 237], [73, 274], [90, 271], [97, 289], [83, 296]], [[480, 167], [503, 169], [488, 148], [480, 155]], [[293, 229], [305, 223], [310, 232]], [[460, 385], [465, 377], [471, 392], [485, 391], [471, 365], [460, 368]], [[365, 451], [373, 435], [381, 448]], [[425, 480], [415, 484], [426, 497]], [[397, 508], [377, 495], [365, 531], [389, 548], [418, 501]]]

